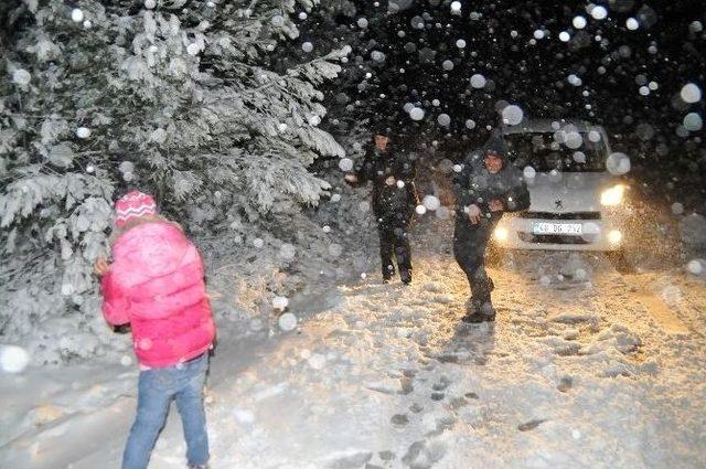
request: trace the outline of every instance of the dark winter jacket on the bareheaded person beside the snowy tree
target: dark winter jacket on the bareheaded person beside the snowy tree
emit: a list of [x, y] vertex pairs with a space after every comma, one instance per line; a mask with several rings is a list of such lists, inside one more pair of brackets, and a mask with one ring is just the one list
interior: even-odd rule
[[415, 186], [416, 162], [404, 151], [368, 149], [356, 166], [359, 182], [373, 182], [373, 212], [378, 218], [411, 216], [419, 203]]

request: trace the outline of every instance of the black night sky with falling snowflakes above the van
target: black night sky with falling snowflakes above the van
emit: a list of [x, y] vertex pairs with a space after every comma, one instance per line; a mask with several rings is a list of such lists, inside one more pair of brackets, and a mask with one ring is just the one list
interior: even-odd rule
[[[350, 98], [347, 104], [356, 99], [360, 104], [347, 109], [334, 107], [332, 117], [357, 120], [374, 114], [374, 119], [407, 134], [424, 131], [425, 139], [447, 134], [448, 140], [466, 136], [477, 141], [484, 138], [480, 131], [484, 126], [499, 122], [495, 108], [505, 100], [521, 106], [527, 117], [579, 117], [627, 138], [638, 125], [643, 124], [644, 130], [648, 124], [654, 130], [646, 132], [654, 134], [650, 139], [653, 147], [660, 141], [670, 148], [700, 147], [694, 140], [703, 130], [682, 138], [675, 129], [687, 111], [703, 111], [703, 102], [691, 107], [673, 103], [684, 84], [704, 84], [705, 33], [689, 31], [693, 21], [706, 22], [700, 1], [599, 2], [609, 11], [602, 21], [587, 13], [584, 1], [462, 2], [458, 15], [451, 13], [449, 1], [408, 3], [409, 8], [389, 14], [386, 3], [374, 7], [359, 1], [355, 14], [335, 18], [339, 32], [347, 34], [344, 41], [350, 43], [354, 38], [354, 54], [360, 55], [335, 84], [335, 94], [343, 90]], [[588, 20], [582, 30], [571, 25], [577, 15]], [[415, 17], [426, 17], [424, 29], [413, 28]], [[367, 28], [356, 25], [359, 18], [368, 21]], [[638, 30], [628, 30], [629, 18], [638, 19]], [[310, 35], [321, 30], [327, 28], [312, 30]], [[532, 44], [536, 30], [546, 35]], [[405, 32], [404, 38], [399, 31]], [[558, 39], [563, 31], [571, 36], [568, 43]], [[457, 47], [459, 39], [466, 41], [464, 49]], [[656, 50], [650, 52], [650, 46]], [[434, 51], [428, 62], [420, 58], [424, 47]], [[373, 51], [383, 52], [385, 60], [372, 60]], [[443, 70], [447, 60], [453, 62], [452, 71]], [[372, 77], [365, 79], [367, 72]], [[475, 73], [488, 79], [483, 89], [469, 84]], [[567, 81], [570, 74], [582, 84], [571, 85]], [[652, 81], [659, 89], [641, 96], [640, 86]], [[440, 105], [432, 106], [432, 99], [439, 99]], [[426, 110], [421, 125], [415, 125], [402, 109], [405, 103]], [[436, 122], [441, 113], [451, 117], [448, 129]], [[467, 119], [479, 125], [474, 131], [466, 129]]]

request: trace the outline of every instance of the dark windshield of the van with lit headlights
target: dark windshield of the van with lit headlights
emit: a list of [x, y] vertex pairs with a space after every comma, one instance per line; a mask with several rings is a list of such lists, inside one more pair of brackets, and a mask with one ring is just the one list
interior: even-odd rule
[[[580, 136], [580, 138], [579, 138]], [[588, 132], [567, 134], [557, 142], [552, 132], [510, 134], [505, 141], [515, 166], [533, 167], [537, 172], [597, 172], [606, 170], [606, 143], [602, 136], [591, 141]], [[596, 140], [595, 135], [592, 135]]]

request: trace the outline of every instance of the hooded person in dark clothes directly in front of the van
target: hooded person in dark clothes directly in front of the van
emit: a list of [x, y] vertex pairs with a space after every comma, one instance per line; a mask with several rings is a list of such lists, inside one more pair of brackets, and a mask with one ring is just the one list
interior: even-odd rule
[[495, 320], [491, 301], [493, 280], [485, 271], [485, 248], [504, 212], [530, 207], [523, 173], [507, 159], [500, 135], [493, 135], [480, 151], [466, 157], [453, 181], [457, 194], [453, 255], [471, 287], [466, 322]]

